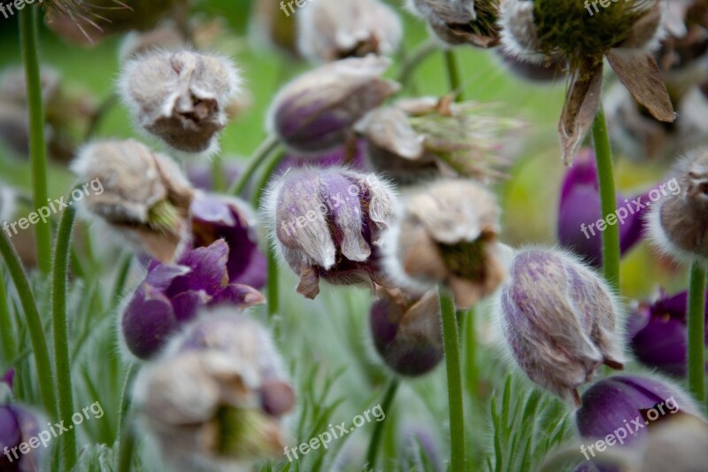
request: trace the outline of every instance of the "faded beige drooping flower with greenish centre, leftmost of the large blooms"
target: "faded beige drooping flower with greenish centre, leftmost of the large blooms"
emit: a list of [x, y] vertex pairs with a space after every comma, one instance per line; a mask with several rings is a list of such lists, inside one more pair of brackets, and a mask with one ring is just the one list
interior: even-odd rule
[[87, 145], [72, 170], [81, 182], [100, 182], [78, 203], [118, 230], [139, 251], [171, 262], [188, 240], [194, 190], [168, 157], [135, 140]]

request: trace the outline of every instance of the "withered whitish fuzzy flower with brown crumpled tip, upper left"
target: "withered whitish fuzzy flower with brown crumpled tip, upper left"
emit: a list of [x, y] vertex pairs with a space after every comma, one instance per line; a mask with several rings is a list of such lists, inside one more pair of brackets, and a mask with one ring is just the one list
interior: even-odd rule
[[140, 126], [178, 151], [214, 152], [240, 89], [227, 58], [180, 50], [127, 61], [120, 94]]

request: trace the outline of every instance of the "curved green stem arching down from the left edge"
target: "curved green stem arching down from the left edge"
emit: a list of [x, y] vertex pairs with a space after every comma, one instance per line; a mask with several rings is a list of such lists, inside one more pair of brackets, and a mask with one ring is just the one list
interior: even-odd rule
[[54, 396], [54, 377], [51, 371], [47, 339], [44, 337], [44, 329], [42, 328], [42, 318], [39, 315], [39, 310], [37, 310], [35, 296], [32, 293], [19, 256], [4, 231], [0, 231], [0, 254], [2, 254], [5, 265], [7, 265], [7, 269], [10, 272], [12, 282], [15, 284], [15, 289], [19, 296], [19, 303], [22, 305], [22, 312], [25, 314], [27, 331], [32, 343], [32, 350], [35, 353], [42, 405], [46, 414], [53, 420], [57, 418], [57, 398]]

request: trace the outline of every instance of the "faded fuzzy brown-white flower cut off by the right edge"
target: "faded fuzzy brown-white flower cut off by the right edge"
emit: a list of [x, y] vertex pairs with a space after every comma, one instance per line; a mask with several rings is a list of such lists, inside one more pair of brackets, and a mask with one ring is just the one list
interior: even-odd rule
[[647, 226], [651, 243], [661, 252], [690, 264], [708, 263], [708, 149], [679, 159], [669, 173], [681, 192], [651, 206]]

